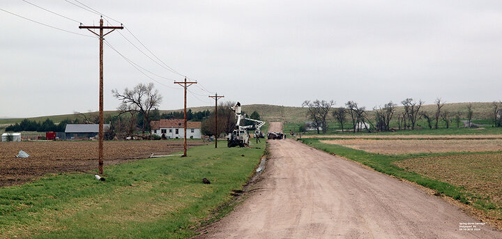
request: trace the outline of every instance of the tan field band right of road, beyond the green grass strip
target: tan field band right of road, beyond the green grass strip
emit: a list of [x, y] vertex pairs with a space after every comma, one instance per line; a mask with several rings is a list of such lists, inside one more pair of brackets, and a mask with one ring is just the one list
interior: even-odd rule
[[502, 139], [329, 139], [321, 142], [387, 155], [502, 150]]

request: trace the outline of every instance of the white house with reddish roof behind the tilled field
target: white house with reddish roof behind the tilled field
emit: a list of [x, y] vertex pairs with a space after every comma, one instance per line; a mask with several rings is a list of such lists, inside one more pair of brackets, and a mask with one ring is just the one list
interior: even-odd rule
[[[167, 139], [183, 139], [185, 137], [183, 119], [161, 119], [160, 121], [151, 121], [151, 133], [162, 137], [165, 134]], [[187, 138], [201, 139], [201, 122], [187, 122]]]

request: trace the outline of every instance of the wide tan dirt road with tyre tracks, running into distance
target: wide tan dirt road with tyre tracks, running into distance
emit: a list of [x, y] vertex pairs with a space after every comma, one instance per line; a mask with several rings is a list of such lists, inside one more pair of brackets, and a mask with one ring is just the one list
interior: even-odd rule
[[487, 225], [459, 231], [479, 221], [413, 185], [293, 139], [269, 142], [255, 190], [199, 238], [502, 238]]

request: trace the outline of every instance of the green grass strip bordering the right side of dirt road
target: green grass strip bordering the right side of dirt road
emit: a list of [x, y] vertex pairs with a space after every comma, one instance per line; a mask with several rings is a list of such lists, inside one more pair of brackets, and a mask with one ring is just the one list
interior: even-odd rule
[[[450, 196], [453, 199], [461, 201], [462, 203], [473, 205], [475, 208], [478, 208], [485, 212], [485, 214], [495, 221], [502, 220], [502, 205], [498, 203], [499, 200], [493, 198], [492, 195], [488, 193], [483, 193], [482, 191], [472, 190], [471, 188], [464, 187], [462, 182], [455, 183], [455, 185], [450, 182], [446, 183], [444, 178], [440, 176], [432, 176], [431, 174], [418, 174], [415, 171], [403, 169], [398, 167], [396, 164], [400, 164], [401, 162], [406, 162], [409, 159], [420, 160], [420, 158], [429, 158], [429, 157], [460, 157], [464, 155], [494, 155], [494, 153], [500, 154], [501, 152], [482, 152], [482, 153], [473, 153], [473, 152], [456, 152], [456, 153], [413, 153], [413, 154], [405, 154], [405, 155], [384, 155], [379, 153], [367, 153], [365, 151], [347, 148], [344, 146], [336, 145], [336, 144], [324, 144], [321, 143], [320, 140], [323, 138], [316, 139], [298, 139], [303, 141], [304, 144], [312, 146], [314, 148], [319, 148], [322, 151], [326, 151], [328, 153], [332, 153], [335, 155], [340, 155], [342, 157], [346, 157], [350, 160], [360, 162], [361, 164], [365, 164], [372, 169], [382, 172], [384, 174], [396, 176], [397, 178], [404, 178], [411, 182], [418, 183], [419, 185], [423, 185], [425, 187], [429, 187], [432, 190], [436, 190], [439, 194], [444, 194], [446, 196]], [[425, 162], [422, 162], [422, 164]], [[437, 179], [435, 179], [437, 178]], [[466, 179], [468, 180], [468, 179]]]

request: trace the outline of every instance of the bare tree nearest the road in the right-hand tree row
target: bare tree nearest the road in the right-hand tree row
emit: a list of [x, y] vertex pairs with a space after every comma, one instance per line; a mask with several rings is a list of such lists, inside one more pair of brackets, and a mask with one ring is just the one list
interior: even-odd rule
[[312, 120], [312, 126], [317, 129], [317, 134], [319, 134], [319, 128], [321, 128], [323, 133], [326, 133], [328, 130], [326, 118], [328, 117], [329, 111], [333, 105], [335, 105], [333, 100], [314, 100], [313, 102], [305, 100], [303, 102], [302, 107], [307, 107], [307, 117]]

